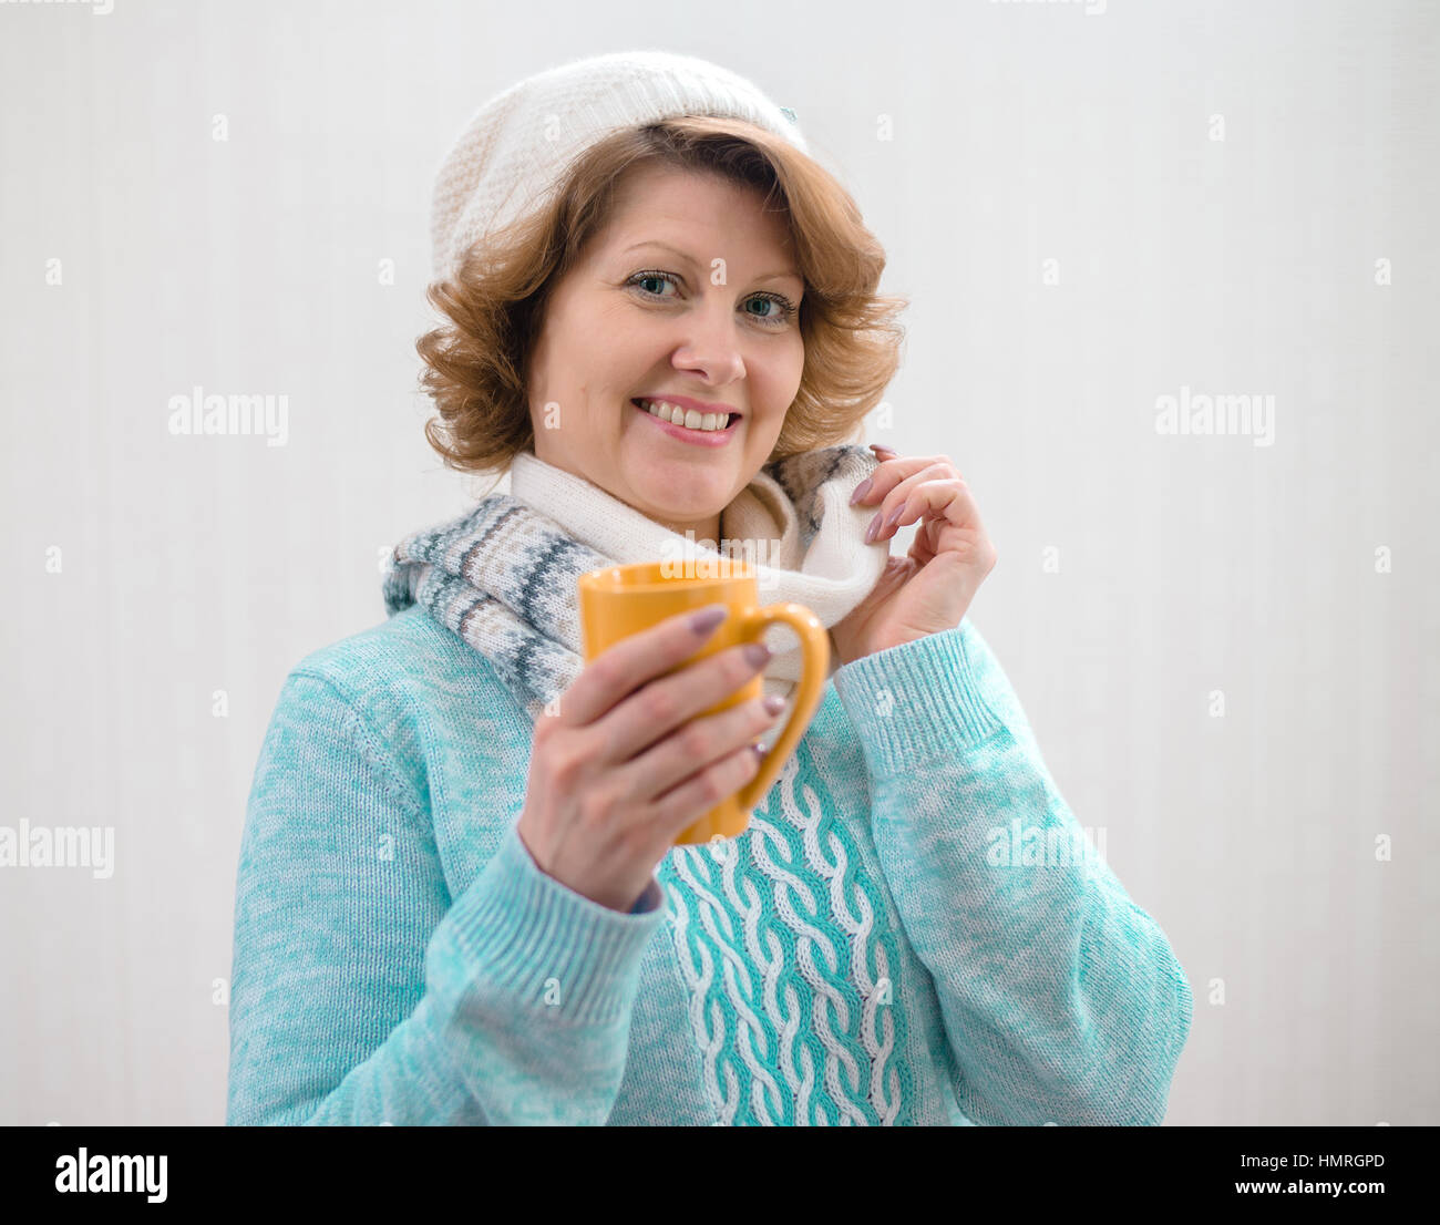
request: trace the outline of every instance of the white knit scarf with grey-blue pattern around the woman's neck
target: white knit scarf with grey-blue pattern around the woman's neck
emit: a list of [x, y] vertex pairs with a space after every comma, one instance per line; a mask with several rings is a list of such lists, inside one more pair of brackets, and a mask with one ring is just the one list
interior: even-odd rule
[[[755, 569], [762, 606], [793, 600], [822, 625], [835, 625], [870, 595], [890, 554], [887, 541], [864, 543], [874, 511], [850, 505], [854, 488], [877, 466], [870, 451], [854, 445], [768, 464], [721, 512], [723, 540], [714, 547], [521, 452], [508, 494], [491, 494], [395, 547], [383, 577], [386, 615], [420, 605], [481, 652], [536, 720], [585, 666], [576, 580], [588, 570], [667, 560], [733, 569], [744, 561]], [[799, 646], [782, 646], [795, 642], [786, 628], [763, 638], [778, 652], [766, 665], [765, 692], [789, 700], [801, 675]], [[832, 658], [831, 675], [835, 666]]]

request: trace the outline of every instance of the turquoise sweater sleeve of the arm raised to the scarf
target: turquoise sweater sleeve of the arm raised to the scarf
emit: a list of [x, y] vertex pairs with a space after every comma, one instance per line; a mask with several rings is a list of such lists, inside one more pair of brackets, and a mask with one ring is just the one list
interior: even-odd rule
[[979, 632], [963, 620], [863, 656], [835, 688], [960, 1110], [982, 1124], [1162, 1121], [1189, 983], [1060, 797]]

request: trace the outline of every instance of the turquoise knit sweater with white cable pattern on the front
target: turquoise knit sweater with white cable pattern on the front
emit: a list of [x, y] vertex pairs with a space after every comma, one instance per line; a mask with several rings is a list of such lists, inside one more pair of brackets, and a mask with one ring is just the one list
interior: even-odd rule
[[294, 668], [235, 900], [226, 1121], [1159, 1123], [1189, 1032], [975, 626], [838, 668], [736, 839], [622, 914], [516, 833], [531, 724], [409, 607]]

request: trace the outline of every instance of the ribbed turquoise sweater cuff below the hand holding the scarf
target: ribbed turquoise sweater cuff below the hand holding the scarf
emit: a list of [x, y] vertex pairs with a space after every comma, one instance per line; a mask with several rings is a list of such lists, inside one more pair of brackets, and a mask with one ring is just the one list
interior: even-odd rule
[[835, 692], [876, 777], [972, 749], [1005, 724], [991, 710], [966, 652], [969, 622], [852, 659]]

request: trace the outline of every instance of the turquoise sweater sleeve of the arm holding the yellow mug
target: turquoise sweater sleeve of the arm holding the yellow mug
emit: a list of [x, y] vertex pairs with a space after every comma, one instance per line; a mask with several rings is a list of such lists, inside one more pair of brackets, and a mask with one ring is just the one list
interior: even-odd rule
[[287, 678], [240, 842], [228, 1124], [609, 1117], [658, 885], [613, 911], [511, 826], [451, 904], [426, 803], [340, 688]]

